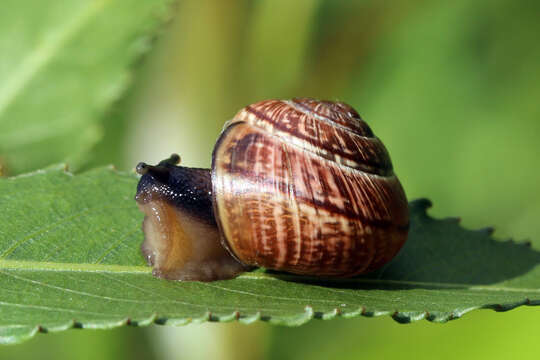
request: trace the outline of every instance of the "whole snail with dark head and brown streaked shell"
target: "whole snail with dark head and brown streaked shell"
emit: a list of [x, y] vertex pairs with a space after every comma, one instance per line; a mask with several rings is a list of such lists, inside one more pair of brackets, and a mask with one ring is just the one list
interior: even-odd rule
[[212, 168], [180, 157], [142, 175], [142, 253], [153, 274], [229, 279], [264, 267], [352, 277], [389, 262], [409, 214], [388, 152], [343, 102], [266, 100], [225, 124]]

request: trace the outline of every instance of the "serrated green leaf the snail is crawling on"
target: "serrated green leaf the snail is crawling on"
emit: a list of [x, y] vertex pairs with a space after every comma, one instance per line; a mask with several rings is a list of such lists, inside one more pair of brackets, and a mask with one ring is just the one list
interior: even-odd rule
[[411, 230], [385, 268], [323, 280], [257, 270], [234, 280], [152, 277], [139, 253], [137, 177], [61, 167], [0, 180], [0, 342], [72, 327], [390, 315], [445, 322], [473, 309], [540, 304], [540, 252], [410, 203]]

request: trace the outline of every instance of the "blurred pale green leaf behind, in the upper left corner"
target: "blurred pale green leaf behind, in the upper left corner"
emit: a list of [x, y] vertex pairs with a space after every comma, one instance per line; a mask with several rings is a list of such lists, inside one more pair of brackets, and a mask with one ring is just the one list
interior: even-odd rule
[[[129, 84], [170, 0], [0, 4], [0, 165], [10, 174], [70, 159]], [[24, 19], [24, 21], [21, 21]]]

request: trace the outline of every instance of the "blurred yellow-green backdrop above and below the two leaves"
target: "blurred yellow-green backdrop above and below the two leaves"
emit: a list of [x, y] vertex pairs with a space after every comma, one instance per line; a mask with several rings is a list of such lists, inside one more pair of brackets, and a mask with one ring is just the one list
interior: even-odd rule
[[[495, 225], [499, 238], [540, 249], [540, 3], [214, 0], [179, 1], [175, 11], [81, 170], [128, 170], [171, 152], [207, 167], [223, 122], [242, 106], [339, 99], [384, 141], [409, 199], [429, 197], [432, 215]], [[0, 359], [538, 358], [539, 323], [532, 307], [442, 325], [69, 330], [2, 347]]]

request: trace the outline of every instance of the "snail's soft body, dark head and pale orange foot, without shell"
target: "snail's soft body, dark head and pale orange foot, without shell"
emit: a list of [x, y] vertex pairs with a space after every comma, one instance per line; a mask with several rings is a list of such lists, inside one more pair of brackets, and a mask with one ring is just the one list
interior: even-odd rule
[[146, 215], [142, 253], [157, 277], [230, 279], [246, 268], [221, 245], [212, 210], [209, 169], [177, 166], [173, 154], [156, 166], [139, 163], [135, 200]]

